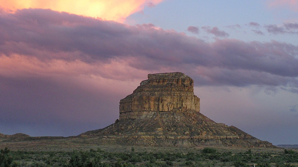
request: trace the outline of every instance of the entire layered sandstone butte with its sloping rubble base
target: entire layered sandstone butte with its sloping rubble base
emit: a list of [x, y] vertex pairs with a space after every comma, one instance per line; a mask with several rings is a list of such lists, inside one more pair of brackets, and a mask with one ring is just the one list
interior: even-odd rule
[[114, 124], [78, 137], [103, 145], [275, 147], [201, 114], [193, 79], [181, 72], [148, 74], [132, 94], [120, 100], [119, 112]]

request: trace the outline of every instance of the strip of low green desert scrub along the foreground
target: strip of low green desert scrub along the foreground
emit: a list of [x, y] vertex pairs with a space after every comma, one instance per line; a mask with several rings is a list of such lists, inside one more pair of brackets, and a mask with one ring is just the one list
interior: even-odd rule
[[10, 151], [1, 149], [0, 167], [297, 167], [298, 152], [223, 151], [211, 147], [189, 152], [126, 152], [98, 149], [73, 151]]

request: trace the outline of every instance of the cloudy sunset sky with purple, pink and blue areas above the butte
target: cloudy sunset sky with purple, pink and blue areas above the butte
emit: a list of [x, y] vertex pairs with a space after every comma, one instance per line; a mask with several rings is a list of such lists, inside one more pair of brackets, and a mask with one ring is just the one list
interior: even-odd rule
[[180, 71], [210, 119], [298, 144], [297, 38], [297, 0], [0, 0], [0, 133], [104, 128]]

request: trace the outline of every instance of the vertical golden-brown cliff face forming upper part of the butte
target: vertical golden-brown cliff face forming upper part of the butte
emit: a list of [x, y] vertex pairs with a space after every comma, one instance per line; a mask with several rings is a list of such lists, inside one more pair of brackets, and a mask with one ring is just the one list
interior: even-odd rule
[[148, 74], [148, 79], [132, 94], [120, 100], [119, 120], [188, 109], [200, 111], [200, 98], [193, 93], [193, 79], [181, 72]]

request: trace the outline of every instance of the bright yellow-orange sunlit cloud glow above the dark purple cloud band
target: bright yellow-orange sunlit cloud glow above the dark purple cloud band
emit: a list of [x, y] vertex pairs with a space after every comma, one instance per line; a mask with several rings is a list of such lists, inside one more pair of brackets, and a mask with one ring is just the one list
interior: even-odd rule
[[7, 11], [24, 8], [52, 9], [76, 15], [123, 22], [132, 13], [141, 11], [146, 5], [158, 4], [162, 0], [0, 0], [0, 7]]

